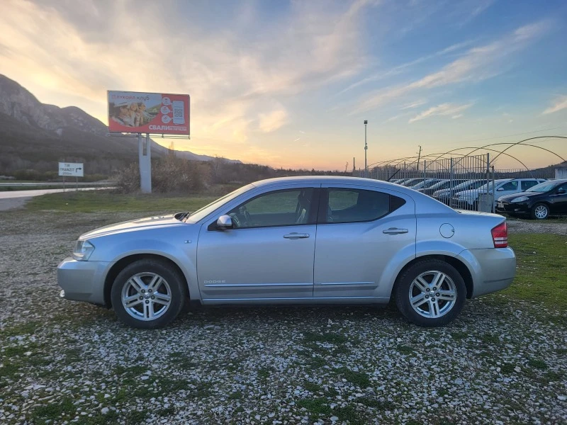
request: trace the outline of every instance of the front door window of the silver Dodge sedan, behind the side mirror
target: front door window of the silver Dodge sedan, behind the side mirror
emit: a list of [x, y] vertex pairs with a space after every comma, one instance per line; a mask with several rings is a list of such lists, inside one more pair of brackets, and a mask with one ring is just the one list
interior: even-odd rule
[[313, 224], [313, 188], [264, 193], [228, 215], [235, 229]]

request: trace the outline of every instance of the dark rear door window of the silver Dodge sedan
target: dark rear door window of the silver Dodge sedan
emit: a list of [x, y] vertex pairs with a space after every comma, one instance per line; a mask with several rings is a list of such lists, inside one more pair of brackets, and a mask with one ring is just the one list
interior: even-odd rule
[[327, 195], [324, 208], [319, 211], [322, 223], [378, 220], [405, 204], [405, 200], [397, 196], [363, 189], [329, 188]]

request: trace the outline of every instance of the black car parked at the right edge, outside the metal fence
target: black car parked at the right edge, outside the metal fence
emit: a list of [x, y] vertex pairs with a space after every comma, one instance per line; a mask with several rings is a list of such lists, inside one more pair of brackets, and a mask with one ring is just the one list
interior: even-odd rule
[[552, 214], [567, 214], [567, 179], [545, 181], [525, 192], [501, 196], [497, 212], [543, 220]]

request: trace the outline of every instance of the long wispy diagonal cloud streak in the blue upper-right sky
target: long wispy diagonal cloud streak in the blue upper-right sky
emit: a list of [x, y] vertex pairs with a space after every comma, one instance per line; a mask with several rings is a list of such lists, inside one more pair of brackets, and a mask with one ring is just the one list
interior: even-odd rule
[[471, 48], [465, 55], [445, 65], [437, 72], [432, 72], [405, 85], [374, 91], [369, 96], [361, 98], [359, 106], [354, 108], [349, 115], [371, 111], [413, 91], [426, 91], [464, 81], [475, 82], [495, 77], [505, 72], [513, 53], [527, 47], [529, 42], [538, 38], [548, 30], [549, 26], [549, 21], [540, 21], [517, 28], [500, 40]]

